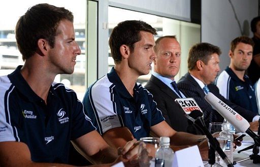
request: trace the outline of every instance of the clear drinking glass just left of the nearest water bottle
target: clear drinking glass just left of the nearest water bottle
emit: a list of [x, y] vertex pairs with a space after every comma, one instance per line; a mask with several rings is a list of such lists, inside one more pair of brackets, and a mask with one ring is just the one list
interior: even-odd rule
[[154, 166], [154, 156], [159, 148], [160, 138], [157, 137], [142, 137], [140, 138], [138, 161], [139, 166]]

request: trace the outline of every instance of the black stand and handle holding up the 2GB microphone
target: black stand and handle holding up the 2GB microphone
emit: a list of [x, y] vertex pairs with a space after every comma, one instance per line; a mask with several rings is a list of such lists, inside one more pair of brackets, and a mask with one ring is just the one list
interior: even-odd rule
[[206, 128], [205, 122], [202, 117], [197, 118], [194, 121], [194, 124], [197, 125], [207, 136], [208, 141], [210, 143], [210, 148], [213, 148], [214, 150], [217, 151], [217, 153], [220, 155], [220, 157], [223, 159], [225, 164], [229, 167], [234, 167], [232, 162], [229, 160], [229, 158], [225, 155], [224, 151], [220, 148], [219, 143], [216, 139], [216, 137], [213, 137], [209, 130]]

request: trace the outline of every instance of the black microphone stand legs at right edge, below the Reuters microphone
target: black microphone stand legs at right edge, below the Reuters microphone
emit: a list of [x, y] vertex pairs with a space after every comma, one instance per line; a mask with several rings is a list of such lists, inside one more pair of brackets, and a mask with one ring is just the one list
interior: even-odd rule
[[[260, 119], [258, 120], [258, 124], [260, 124]], [[245, 151], [245, 150], [250, 150], [250, 149], [253, 149], [252, 150], [252, 154], [249, 155], [249, 158], [245, 158], [245, 159], [242, 159], [240, 161], [237, 161], [238, 162], [242, 162], [242, 161], [245, 161], [247, 159], [252, 159], [253, 160], [253, 163], [260, 163], [260, 155], [258, 155], [259, 153], [259, 148], [260, 147], [260, 140], [259, 140], [259, 137], [257, 136], [254, 136], [254, 134], [252, 134], [253, 132], [251, 130], [246, 130], [246, 133], [248, 133], [254, 140], [254, 144], [251, 145], [251, 146], [248, 146], [240, 151], [238, 151], [238, 153], [241, 153], [242, 151]], [[259, 128], [259, 125], [258, 125], [258, 130], [257, 130], [257, 134], [258, 136], [260, 135], [260, 128]], [[254, 136], [254, 137], [253, 137]]]

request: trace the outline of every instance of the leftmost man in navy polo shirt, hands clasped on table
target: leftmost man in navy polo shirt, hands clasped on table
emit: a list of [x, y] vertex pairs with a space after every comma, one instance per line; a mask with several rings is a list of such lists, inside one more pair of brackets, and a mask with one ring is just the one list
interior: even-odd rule
[[[73, 14], [38, 4], [19, 18], [15, 32], [25, 63], [0, 77], [1, 166], [67, 166], [70, 141], [93, 163], [115, 160], [116, 149], [95, 130], [76, 93], [53, 82], [57, 74], [73, 73], [81, 53]], [[135, 143], [115, 162], [136, 155], [129, 150]]]

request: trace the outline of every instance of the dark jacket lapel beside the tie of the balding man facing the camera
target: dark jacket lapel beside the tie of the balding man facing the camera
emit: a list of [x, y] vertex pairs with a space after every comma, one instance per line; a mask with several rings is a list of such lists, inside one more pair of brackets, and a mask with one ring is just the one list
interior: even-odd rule
[[156, 78], [155, 76], [152, 75], [150, 78], [150, 81], [153, 82], [153, 84], [155, 84], [162, 92], [167, 94], [173, 100], [176, 98], [180, 98], [179, 96], [177, 96], [175, 94], [175, 92], [173, 90], [171, 90], [171, 88], [169, 88], [163, 81]]

